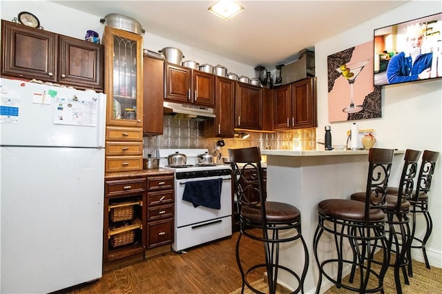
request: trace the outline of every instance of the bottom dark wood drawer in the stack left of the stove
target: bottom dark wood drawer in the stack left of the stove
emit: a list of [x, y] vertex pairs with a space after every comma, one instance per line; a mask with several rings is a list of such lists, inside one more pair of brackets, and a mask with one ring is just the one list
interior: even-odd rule
[[147, 224], [147, 247], [173, 243], [173, 218]]

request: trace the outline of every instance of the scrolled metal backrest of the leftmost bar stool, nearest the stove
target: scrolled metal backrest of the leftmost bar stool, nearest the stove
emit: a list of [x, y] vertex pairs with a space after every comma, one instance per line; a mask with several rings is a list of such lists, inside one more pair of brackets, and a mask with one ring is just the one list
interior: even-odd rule
[[[240, 217], [242, 217], [240, 208], [243, 206], [260, 209], [262, 216], [265, 216], [267, 195], [262, 175], [260, 148], [229, 149], [229, 159]], [[250, 197], [251, 195], [259, 196]], [[262, 217], [262, 221], [265, 222], [265, 217]]]

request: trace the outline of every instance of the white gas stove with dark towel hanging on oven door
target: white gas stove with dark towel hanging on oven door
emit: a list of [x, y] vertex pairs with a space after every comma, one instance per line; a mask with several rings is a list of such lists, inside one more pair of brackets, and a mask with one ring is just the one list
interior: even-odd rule
[[[167, 157], [176, 152], [186, 155], [185, 166], [169, 166]], [[198, 166], [198, 155], [205, 152], [208, 150], [160, 149], [160, 167], [175, 172], [175, 252], [232, 234], [231, 166]]]

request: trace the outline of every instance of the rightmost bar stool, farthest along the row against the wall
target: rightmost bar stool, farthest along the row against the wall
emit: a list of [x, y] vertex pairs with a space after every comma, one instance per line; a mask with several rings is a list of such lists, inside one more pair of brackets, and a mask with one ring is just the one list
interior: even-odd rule
[[[427, 252], [425, 246], [427, 244], [428, 238], [431, 235], [433, 222], [428, 210], [428, 193], [430, 192], [432, 176], [434, 174], [434, 168], [436, 167], [436, 161], [439, 159], [439, 152], [424, 150], [421, 159], [421, 167], [419, 168], [419, 176], [417, 178], [416, 190], [413, 191], [413, 197], [410, 199], [410, 204], [412, 208], [410, 213], [412, 213], [412, 233], [410, 235], [410, 246], [407, 252], [408, 262], [408, 275], [413, 277], [413, 267], [412, 267], [412, 248], [420, 248], [423, 253], [423, 258], [425, 259], [425, 266], [430, 269], [430, 263], [428, 262]], [[398, 195], [397, 187], [388, 187], [387, 193], [391, 195]], [[423, 238], [415, 236], [416, 233], [416, 215], [418, 213], [423, 214], [425, 217], [426, 231]], [[417, 242], [417, 245], [413, 245], [413, 242]]]

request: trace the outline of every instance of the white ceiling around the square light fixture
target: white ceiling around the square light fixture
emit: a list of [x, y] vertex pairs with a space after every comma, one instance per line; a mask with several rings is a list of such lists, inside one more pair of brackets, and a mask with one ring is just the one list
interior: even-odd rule
[[238, 0], [244, 11], [224, 21], [207, 11], [211, 1], [60, 1], [100, 17], [137, 19], [146, 32], [206, 50], [249, 66], [293, 59], [302, 49], [392, 10], [407, 1]]

